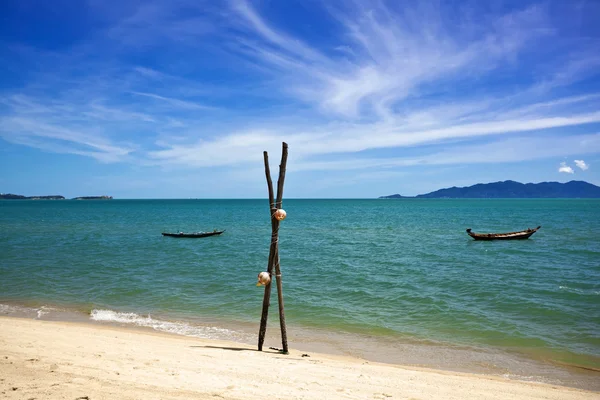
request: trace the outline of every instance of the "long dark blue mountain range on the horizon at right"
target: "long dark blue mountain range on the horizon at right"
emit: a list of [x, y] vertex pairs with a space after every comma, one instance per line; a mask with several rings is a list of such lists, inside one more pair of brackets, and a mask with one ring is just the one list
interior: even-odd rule
[[515, 181], [478, 183], [451, 187], [417, 196], [392, 194], [380, 199], [512, 199], [512, 198], [600, 198], [600, 187], [583, 181], [567, 183], [520, 183]]

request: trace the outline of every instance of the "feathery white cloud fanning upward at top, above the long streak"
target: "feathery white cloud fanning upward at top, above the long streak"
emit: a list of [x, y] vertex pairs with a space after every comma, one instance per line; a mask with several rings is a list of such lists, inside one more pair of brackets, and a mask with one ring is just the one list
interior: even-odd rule
[[[394, 106], [418, 94], [423, 86], [445, 79], [478, 75], [521, 51], [546, 33], [541, 10], [531, 7], [501, 16], [484, 35], [463, 38], [443, 29], [435, 13], [419, 14], [407, 6], [390, 11], [382, 2], [331, 10], [342, 29], [342, 46], [359, 56], [336, 57], [290, 38], [264, 21], [245, 1], [234, 3], [247, 21], [247, 55], [274, 68], [286, 87], [324, 111], [344, 117], [369, 112], [394, 114]], [[466, 30], [466, 29], [464, 29]], [[249, 36], [252, 37], [252, 36]], [[339, 46], [337, 47], [339, 48]], [[283, 76], [282, 76], [283, 75]]]

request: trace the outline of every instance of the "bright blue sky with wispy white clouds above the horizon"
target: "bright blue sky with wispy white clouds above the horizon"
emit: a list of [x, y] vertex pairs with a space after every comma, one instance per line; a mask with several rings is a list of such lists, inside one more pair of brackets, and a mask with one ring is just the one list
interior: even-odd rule
[[[0, 3], [0, 192], [600, 184], [598, 1]], [[276, 177], [274, 176], [274, 179]]]

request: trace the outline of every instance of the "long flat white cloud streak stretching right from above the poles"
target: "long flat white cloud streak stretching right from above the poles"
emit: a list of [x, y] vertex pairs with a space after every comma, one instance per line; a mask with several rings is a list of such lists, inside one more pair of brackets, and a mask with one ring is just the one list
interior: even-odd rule
[[[300, 131], [272, 131], [272, 130], [257, 130], [236, 132], [231, 135], [225, 135], [215, 138], [210, 141], [202, 140], [196, 143], [173, 144], [162, 143], [165, 149], [156, 150], [150, 153], [154, 159], [160, 159], [165, 163], [192, 165], [192, 166], [210, 166], [210, 165], [227, 165], [227, 164], [242, 164], [247, 162], [256, 162], [260, 160], [261, 149], [277, 149], [278, 143], [285, 140], [291, 143], [294, 149], [294, 154], [298, 158], [309, 158], [326, 154], [351, 154], [366, 150], [411, 147], [422, 144], [443, 143], [451, 139], [467, 139], [477, 138], [489, 135], [511, 134], [518, 132], [527, 132], [533, 130], [544, 129], [547, 127], [572, 126], [583, 123], [600, 122], [600, 113], [584, 115], [579, 118], [548, 118], [548, 119], [533, 119], [533, 120], [508, 120], [497, 122], [479, 122], [472, 124], [457, 124], [455, 126], [435, 129], [418, 129], [417, 124], [413, 128], [415, 130], [402, 130], [392, 125], [330, 125], [328, 128], [319, 130], [300, 130]], [[556, 156], [564, 154], [564, 149], [576, 149], [572, 154], [589, 153], [599, 151], [600, 145], [597, 135], [586, 136], [585, 139], [593, 140], [587, 143], [586, 146], [579, 145], [581, 140], [572, 138], [570, 140], [559, 140], [561, 143], [558, 146], [552, 147], [552, 151], [546, 151], [544, 154]], [[519, 139], [528, 142], [527, 139]], [[531, 146], [535, 150], [549, 150], [550, 143], [554, 142], [552, 138], [542, 138], [534, 140], [536, 146]], [[513, 148], [519, 144], [513, 140], [506, 142], [503, 140], [494, 140], [496, 143], [496, 151], [481, 152], [479, 157], [484, 159], [495, 160], [496, 162], [520, 161], [530, 159], [531, 155], [520, 151], [519, 157], [510, 156], [507, 152], [498, 152], [501, 145], [508, 146], [511, 143]], [[566, 145], [571, 144], [568, 147]], [[463, 157], [467, 153], [465, 145], [451, 144], [451, 151], [455, 152], [454, 160], [462, 158], [463, 163], [470, 163], [473, 160]], [[529, 148], [523, 145], [521, 148]], [[563, 149], [563, 153], [557, 151]], [[483, 151], [484, 148], [481, 148]], [[448, 152], [449, 153], [449, 152]], [[353, 160], [354, 158], [352, 158]], [[445, 158], [447, 159], [447, 158]], [[454, 161], [454, 162], [455, 162]], [[454, 163], [453, 162], [453, 163]], [[353, 161], [349, 160], [348, 164]], [[384, 161], [385, 163], [385, 161]], [[319, 163], [324, 169], [327, 162]]]

